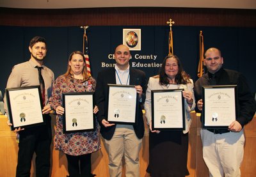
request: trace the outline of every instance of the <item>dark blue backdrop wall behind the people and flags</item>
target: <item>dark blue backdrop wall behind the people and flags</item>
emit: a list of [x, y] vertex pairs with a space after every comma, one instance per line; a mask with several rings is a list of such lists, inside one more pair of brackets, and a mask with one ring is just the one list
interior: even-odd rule
[[[159, 64], [168, 54], [169, 26], [90, 26], [86, 35], [90, 52], [93, 77], [111, 63], [115, 47], [123, 42], [123, 29], [141, 29], [141, 50], [131, 51], [131, 66], [146, 72], [147, 77], [156, 75]], [[224, 67], [242, 72], [253, 93], [256, 92], [255, 64], [256, 28], [244, 27], [190, 27], [173, 26], [173, 51], [184, 66], [184, 70], [196, 81], [199, 61], [199, 33], [204, 34], [205, 49], [217, 47], [224, 58]], [[28, 61], [28, 45], [33, 36], [44, 36], [47, 40], [45, 65], [55, 76], [67, 70], [67, 59], [74, 50], [83, 51], [83, 29], [80, 27], [13, 27], [0, 26], [1, 82], [4, 91], [13, 65]], [[157, 56], [156, 59], [151, 59]], [[140, 59], [141, 58], [141, 59]], [[149, 58], [149, 59], [143, 59]], [[147, 66], [144, 64], [147, 63]], [[148, 67], [150, 66], [150, 67]]]

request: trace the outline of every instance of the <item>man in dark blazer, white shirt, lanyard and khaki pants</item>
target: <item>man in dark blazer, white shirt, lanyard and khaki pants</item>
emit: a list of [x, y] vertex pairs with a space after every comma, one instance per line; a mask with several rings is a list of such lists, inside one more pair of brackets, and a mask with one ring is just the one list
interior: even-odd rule
[[[140, 176], [139, 153], [144, 123], [141, 105], [145, 101], [147, 80], [145, 72], [131, 68], [129, 48], [118, 45], [115, 50], [116, 65], [98, 74], [96, 86], [96, 102], [99, 107], [97, 119], [100, 123], [100, 133], [109, 155], [109, 175], [122, 176], [122, 158], [125, 158], [125, 176]], [[114, 124], [107, 121], [108, 84], [134, 85], [138, 93], [138, 111], [136, 125]], [[136, 104], [136, 103], [134, 103]]]

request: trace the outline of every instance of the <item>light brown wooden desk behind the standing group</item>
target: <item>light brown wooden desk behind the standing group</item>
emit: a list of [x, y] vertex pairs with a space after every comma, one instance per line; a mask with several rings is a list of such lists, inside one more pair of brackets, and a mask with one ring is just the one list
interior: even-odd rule
[[[188, 169], [189, 176], [205, 177], [209, 176], [207, 167], [202, 158], [202, 143], [200, 139], [200, 119], [196, 117], [195, 113], [191, 113], [193, 123], [189, 131], [189, 152], [188, 152]], [[256, 116], [252, 122], [245, 126], [246, 143], [244, 146], [244, 160], [241, 165], [241, 176], [255, 176], [256, 173]], [[14, 177], [17, 165], [17, 151], [18, 146], [15, 142], [15, 133], [10, 131], [6, 125], [7, 118], [0, 116], [0, 170], [3, 177]], [[146, 125], [146, 124], [145, 124]], [[52, 116], [52, 127], [56, 128], [55, 116]], [[54, 135], [54, 128], [52, 128], [52, 135]], [[51, 176], [59, 177], [66, 176], [67, 173], [67, 159], [60, 151], [52, 149], [52, 169]], [[145, 136], [143, 137], [143, 145], [140, 151], [140, 176], [149, 177], [146, 173], [148, 165], [148, 127], [145, 126]], [[102, 149], [93, 153], [92, 155], [92, 169], [97, 177], [109, 177], [108, 174], [108, 154], [102, 143]], [[31, 167], [31, 176], [35, 176], [35, 157]], [[125, 175], [123, 175], [125, 176]]]

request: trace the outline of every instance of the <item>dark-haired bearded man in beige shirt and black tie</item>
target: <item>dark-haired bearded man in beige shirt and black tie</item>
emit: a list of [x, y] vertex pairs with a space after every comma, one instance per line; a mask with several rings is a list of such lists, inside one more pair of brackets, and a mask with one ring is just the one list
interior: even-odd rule
[[[48, 177], [52, 135], [51, 116], [49, 116], [51, 107], [47, 102], [51, 96], [54, 73], [44, 66], [44, 59], [47, 52], [45, 38], [35, 36], [29, 43], [29, 51], [31, 53], [29, 61], [13, 66], [6, 88], [41, 85], [42, 104], [44, 105], [42, 114], [44, 114], [44, 122], [46, 124], [26, 129], [19, 127], [14, 130], [14, 132], [17, 132], [17, 137], [19, 137], [16, 176], [30, 176], [31, 160], [35, 152], [36, 176]], [[41, 81], [39, 81], [40, 79]], [[7, 112], [6, 102], [4, 102], [4, 109]], [[8, 125], [12, 124], [8, 122]]]

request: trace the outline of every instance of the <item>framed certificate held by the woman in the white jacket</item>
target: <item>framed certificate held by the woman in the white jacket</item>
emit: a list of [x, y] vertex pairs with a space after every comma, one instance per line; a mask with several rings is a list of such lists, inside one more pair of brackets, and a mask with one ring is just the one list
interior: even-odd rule
[[184, 89], [152, 90], [152, 130], [185, 130]]

